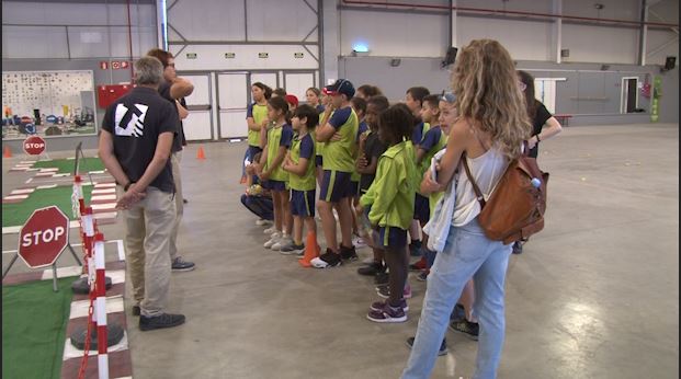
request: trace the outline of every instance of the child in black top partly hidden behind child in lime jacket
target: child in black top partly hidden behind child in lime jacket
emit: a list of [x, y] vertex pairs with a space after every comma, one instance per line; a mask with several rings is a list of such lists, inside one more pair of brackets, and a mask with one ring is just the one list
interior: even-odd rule
[[[360, 154], [355, 163], [357, 172], [362, 174], [360, 176], [361, 195], [366, 193], [372, 183], [374, 183], [376, 168], [378, 166], [378, 158], [381, 158], [387, 149], [387, 146], [378, 138], [378, 116], [387, 110], [389, 105], [388, 99], [383, 95], [373, 96], [366, 102], [366, 116], [364, 119], [370, 130], [360, 136]], [[373, 276], [385, 273], [385, 251], [375, 248], [376, 244], [372, 243], [373, 241], [366, 242], [373, 246], [374, 262], [367, 266], [357, 268], [357, 274]]]

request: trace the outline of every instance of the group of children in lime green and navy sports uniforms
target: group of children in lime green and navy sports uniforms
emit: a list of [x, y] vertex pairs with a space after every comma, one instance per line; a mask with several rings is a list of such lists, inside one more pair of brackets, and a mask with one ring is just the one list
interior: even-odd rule
[[[405, 103], [390, 105], [378, 88], [355, 91], [344, 79], [322, 91], [308, 89], [300, 105], [284, 90], [260, 82], [251, 93], [245, 182], [272, 194], [274, 220], [264, 230], [270, 236], [264, 248], [326, 268], [356, 260], [355, 245], [370, 245], [373, 260], [357, 272], [375, 276], [377, 295], [387, 300], [371, 305], [367, 318], [406, 321], [410, 255], [422, 256], [411, 265], [422, 280], [434, 261], [420, 229], [441, 194], [424, 197], [418, 188], [432, 157], [446, 146], [456, 117], [453, 95], [415, 87]], [[327, 241], [324, 253], [315, 209]]]

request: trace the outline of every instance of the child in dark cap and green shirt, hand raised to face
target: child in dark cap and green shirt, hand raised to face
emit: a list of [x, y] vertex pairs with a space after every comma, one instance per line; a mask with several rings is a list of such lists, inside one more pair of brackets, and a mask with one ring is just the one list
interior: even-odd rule
[[[324, 177], [317, 205], [327, 241], [327, 251], [311, 261], [317, 268], [336, 267], [342, 264], [342, 260], [357, 259], [352, 245], [352, 210], [347, 200], [348, 197], [352, 197], [350, 176], [354, 171], [353, 157], [359, 128], [357, 115], [350, 106], [354, 87], [350, 81], [339, 79], [333, 84], [327, 85], [325, 93], [331, 96], [331, 102], [325, 110], [316, 138], [317, 141], [325, 142]], [[338, 136], [334, 137], [336, 134]], [[340, 221], [340, 246], [337, 241], [333, 207], [338, 209]]]

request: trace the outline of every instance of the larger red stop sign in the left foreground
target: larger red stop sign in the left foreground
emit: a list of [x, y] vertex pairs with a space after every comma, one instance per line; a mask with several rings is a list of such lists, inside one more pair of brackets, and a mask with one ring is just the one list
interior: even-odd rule
[[19, 256], [31, 268], [49, 266], [69, 241], [69, 219], [56, 206], [36, 209], [19, 233]]

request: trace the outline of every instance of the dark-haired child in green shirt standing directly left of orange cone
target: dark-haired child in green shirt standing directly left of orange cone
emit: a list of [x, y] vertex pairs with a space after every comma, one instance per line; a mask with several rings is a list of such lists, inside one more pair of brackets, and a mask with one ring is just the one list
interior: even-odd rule
[[305, 250], [303, 223], [305, 223], [308, 234], [317, 236], [317, 223], [315, 222], [317, 188], [315, 181], [315, 141], [310, 133], [319, 123], [319, 114], [313, 106], [303, 104], [295, 110], [291, 120], [296, 134], [293, 137], [291, 151], [286, 156], [283, 169], [288, 172], [288, 185], [291, 186], [293, 245], [282, 248], [281, 253], [302, 255]]

